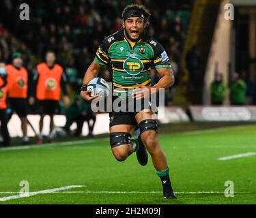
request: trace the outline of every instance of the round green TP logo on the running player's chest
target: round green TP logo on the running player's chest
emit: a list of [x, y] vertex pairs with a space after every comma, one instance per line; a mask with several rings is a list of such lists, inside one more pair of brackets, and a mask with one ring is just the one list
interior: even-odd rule
[[123, 64], [124, 70], [131, 76], [138, 75], [143, 70], [143, 63], [136, 57], [128, 57]]

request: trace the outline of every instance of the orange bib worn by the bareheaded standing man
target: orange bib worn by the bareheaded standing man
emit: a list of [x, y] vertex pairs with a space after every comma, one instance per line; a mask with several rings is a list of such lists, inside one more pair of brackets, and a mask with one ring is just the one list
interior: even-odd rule
[[36, 87], [36, 98], [39, 100], [55, 100], [61, 98], [61, 76], [63, 68], [55, 64], [49, 68], [46, 63], [40, 63], [38, 69], [38, 85]]

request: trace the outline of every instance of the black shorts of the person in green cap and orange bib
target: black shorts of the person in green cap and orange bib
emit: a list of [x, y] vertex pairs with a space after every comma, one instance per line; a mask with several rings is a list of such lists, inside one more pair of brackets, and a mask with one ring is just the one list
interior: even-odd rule
[[27, 98], [9, 98], [10, 108], [12, 109], [12, 113], [16, 112], [18, 116], [27, 116], [28, 104]]

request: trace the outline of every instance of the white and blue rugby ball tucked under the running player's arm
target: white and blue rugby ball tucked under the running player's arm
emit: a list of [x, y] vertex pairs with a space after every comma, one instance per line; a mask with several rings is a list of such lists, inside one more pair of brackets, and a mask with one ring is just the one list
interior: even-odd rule
[[91, 89], [91, 97], [94, 95], [100, 95], [106, 97], [109, 95], [109, 84], [106, 80], [96, 77], [93, 80], [89, 81], [87, 84], [87, 91]]

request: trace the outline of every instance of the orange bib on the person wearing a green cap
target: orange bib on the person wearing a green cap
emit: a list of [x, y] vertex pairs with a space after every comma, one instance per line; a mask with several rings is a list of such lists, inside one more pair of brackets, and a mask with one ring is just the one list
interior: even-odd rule
[[27, 69], [6, 65], [9, 97], [27, 98]]

